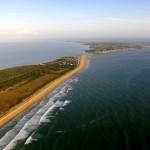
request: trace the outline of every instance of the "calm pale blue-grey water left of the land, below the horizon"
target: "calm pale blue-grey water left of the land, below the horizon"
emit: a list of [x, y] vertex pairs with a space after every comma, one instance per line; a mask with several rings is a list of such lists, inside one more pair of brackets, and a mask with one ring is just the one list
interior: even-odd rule
[[0, 43], [0, 68], [35, 64], [62, 56], [79, 55], [86, 49], [88, 49], [86, 45], [55, 40]]

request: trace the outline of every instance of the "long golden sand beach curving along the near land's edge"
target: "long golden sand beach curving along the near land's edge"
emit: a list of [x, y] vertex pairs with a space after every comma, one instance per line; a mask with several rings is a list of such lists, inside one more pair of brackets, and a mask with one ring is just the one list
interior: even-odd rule
[[61, 77], [55, 79], [54, 81], [48, 83], [38, 91], [36, 91], [33, 95], [26, 98], [23, 102], [13, 107], [10, 111], [8, 111], [5, 115], [0, 117], [0, 127], [5, 125], [7, 122], [18, 116], [20, 113], [28, 109], [30, 106], [35, 104], [36, 102], [40, 101], [43, 96], [45, 96], [48, 92], [53, 90], [56, 86], [58, 86], [63, 81], [67, 80], [69, 77], [80, 71], [86, 64], [88, 54], [82, 54], [78, 56], [80, 62], [78, 66], [67, 72], [66, 74], [62, 75]]

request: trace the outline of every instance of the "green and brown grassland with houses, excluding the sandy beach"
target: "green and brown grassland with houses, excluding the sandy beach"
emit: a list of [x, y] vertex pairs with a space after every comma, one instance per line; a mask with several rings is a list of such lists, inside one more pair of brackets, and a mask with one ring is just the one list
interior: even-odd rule
[[77, 57], [0, 70], [0, 116], [78, 65]]

